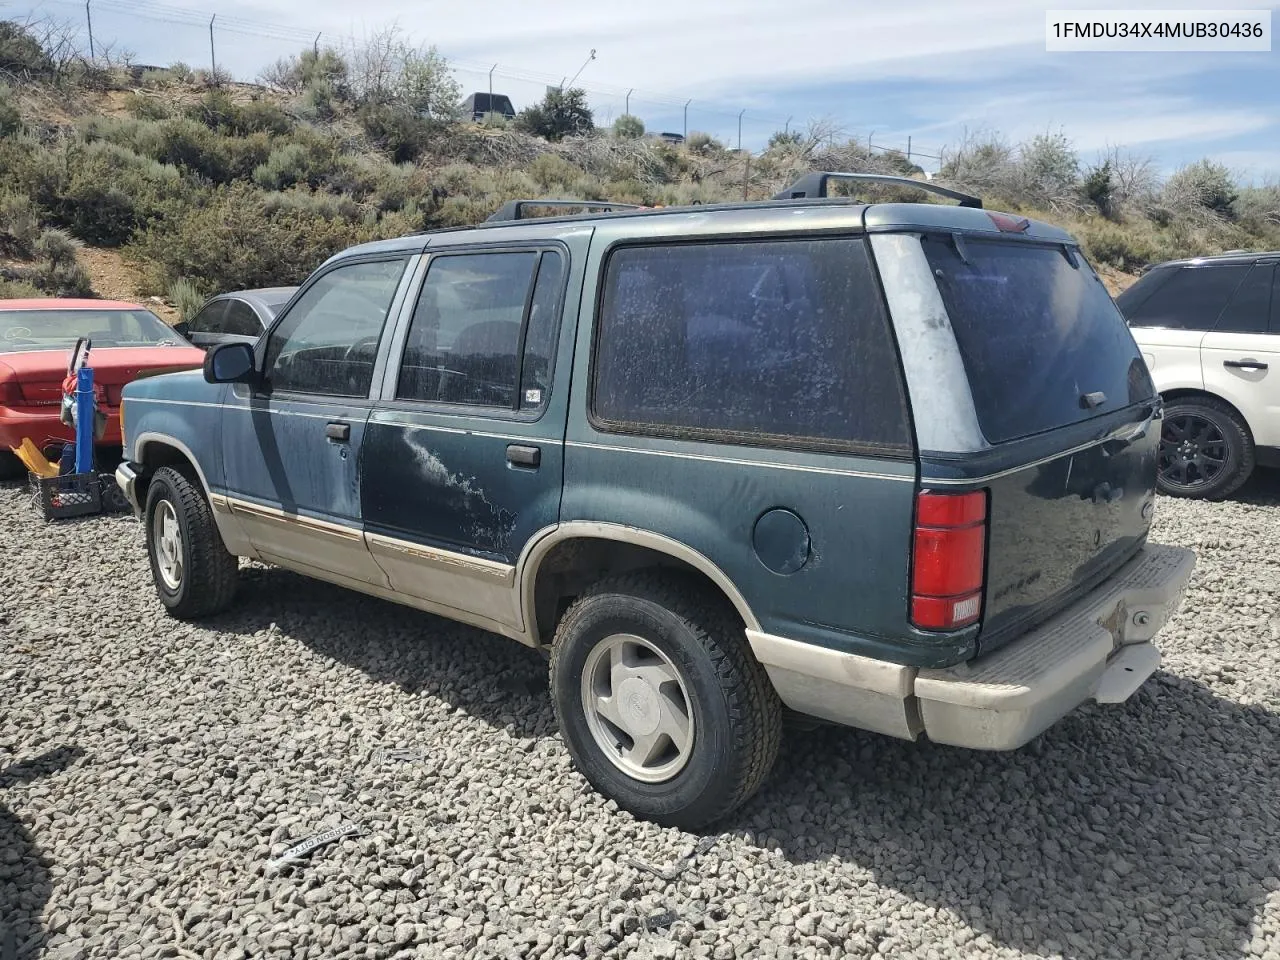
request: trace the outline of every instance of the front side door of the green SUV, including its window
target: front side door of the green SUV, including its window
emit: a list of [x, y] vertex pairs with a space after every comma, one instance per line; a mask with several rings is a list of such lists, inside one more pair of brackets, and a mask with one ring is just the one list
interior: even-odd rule
[[261, 387], [228, 394], [227, 498], [269, 563], [387, 584], [361, 530], [360, 457], [406, 262], [347, 262], [314, 279], [268, 334]]

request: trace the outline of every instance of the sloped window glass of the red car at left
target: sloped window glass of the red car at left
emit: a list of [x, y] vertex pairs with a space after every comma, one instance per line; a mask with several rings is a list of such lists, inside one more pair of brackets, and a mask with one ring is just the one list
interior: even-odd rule
[[0, 311], [0, 353], [65, 349], [87, 337], [93, 347], [183, 344], [172, 326], [148, 310]]

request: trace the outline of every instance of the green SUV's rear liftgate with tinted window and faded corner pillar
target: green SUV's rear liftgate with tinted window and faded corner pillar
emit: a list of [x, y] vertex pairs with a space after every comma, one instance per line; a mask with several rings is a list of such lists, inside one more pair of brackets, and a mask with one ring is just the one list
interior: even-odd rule
[[[920, 484], [989, 492], [978, 649], [991, 650], [1142, 545], [1155, 500], [1155, 388], [1074, 247], [951, 233], [876, 242], [911, 389]], [[952, 335], [938, 335], [946, 326]], [[951, 425], [940, 429], [941, 394], [919, 398], [957, 379]]]

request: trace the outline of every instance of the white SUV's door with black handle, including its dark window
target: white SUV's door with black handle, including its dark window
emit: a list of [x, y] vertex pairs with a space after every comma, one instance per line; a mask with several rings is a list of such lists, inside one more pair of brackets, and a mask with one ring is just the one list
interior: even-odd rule
[[1280, 332], [1270, 325], [1276, 262], [1244, 274], [1201, 346], [1204, 389], [1234, 406], [1260, 447], [1280, 447]]

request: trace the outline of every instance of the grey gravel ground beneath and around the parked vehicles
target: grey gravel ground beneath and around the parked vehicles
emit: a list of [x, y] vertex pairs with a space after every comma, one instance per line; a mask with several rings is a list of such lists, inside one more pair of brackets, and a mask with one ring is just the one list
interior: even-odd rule
[[512, 641], [261, 567], [182, 625], [132, 518], [0, 488], [0, 924], [20, 957], [1280, 959], [1277, 506], [1160, 503], [1199, 566], [1129, 703], [1002, 755], [792, 732], [700, 837], [588, 788]]

